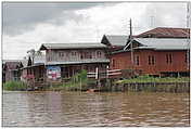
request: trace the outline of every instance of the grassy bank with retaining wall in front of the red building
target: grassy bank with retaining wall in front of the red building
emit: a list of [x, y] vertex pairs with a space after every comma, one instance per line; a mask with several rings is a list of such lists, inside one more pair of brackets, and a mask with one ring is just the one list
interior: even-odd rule
[[190, 78], [188, 77], [165, 77], [155, 78], [150, 76], [140, 76], [138, 78], [117, 80], [111, 90], [115, 91], [144, 91], [144, 92], [190, 92]]

